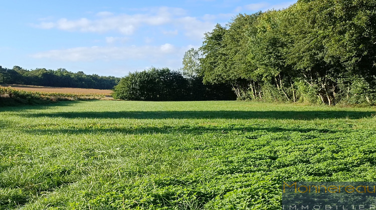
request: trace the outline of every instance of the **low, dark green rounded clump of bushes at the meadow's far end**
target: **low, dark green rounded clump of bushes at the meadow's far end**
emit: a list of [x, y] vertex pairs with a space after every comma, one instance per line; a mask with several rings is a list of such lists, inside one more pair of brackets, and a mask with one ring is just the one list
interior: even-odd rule
[[151, 101], [236, 99], [228, 84], [204, 84], [201, 77], [186, 77], [181, 71], [155, 67], [130, 72], [115, 86], [113, 96]]

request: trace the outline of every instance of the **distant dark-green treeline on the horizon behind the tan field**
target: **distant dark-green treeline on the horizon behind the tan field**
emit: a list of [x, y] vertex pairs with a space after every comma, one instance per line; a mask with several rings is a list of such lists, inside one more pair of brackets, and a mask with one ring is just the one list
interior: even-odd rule
[[87, 75], [82, 71], [73, 73], [65, 68], [27, 70], [20, 66], [14, 66], [12, 69], [0, 66], [0, 84], [112, 89], [119, 80], [120, 78], [115, 76]]

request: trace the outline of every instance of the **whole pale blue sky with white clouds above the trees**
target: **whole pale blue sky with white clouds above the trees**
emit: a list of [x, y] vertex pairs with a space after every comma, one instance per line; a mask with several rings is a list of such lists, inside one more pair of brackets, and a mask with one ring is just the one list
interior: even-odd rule
[[178, 70], [205, 32], [296, 0], [2, 0], [0, 65], [126, 76]]

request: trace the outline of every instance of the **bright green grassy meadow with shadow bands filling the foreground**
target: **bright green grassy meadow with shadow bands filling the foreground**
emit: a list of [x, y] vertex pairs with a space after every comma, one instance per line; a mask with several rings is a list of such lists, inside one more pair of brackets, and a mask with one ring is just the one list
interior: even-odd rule
[[0, 107], [0, 209], [281, 209], [375, 181], [376, 109], [242, 101]]

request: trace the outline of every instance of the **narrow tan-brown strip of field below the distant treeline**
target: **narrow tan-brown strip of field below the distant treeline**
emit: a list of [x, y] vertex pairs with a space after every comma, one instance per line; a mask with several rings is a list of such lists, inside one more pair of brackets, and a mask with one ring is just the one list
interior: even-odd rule
[[50, 93], [72, 93], [72, 94], [101, 94], [110, 95], [113, 91], [109, 89], [85, 89], [73, 87], [48, 87], [48, 86], [34, 86], [34, 85], [20, 85], [20, 84], [2, 84], [3, 87], [12, 87], [14, 89], [35, 91], [35, 92], [50, 92]]

